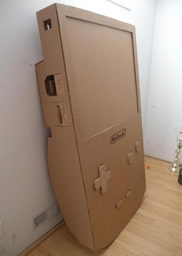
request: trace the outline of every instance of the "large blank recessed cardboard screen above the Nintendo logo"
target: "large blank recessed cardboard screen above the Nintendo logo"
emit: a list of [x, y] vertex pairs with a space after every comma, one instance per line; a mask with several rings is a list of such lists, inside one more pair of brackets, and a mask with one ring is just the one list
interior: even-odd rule
[[133, 38], [131, 32], [85, 20], [66, 17], [66, 24], [75, 104], [83, 139], [88, 139], [138, 112]]

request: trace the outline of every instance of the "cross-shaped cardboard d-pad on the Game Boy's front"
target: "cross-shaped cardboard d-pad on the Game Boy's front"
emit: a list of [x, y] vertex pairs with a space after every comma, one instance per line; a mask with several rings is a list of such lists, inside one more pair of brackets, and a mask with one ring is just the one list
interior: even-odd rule
[[111, 170], [106, 171], [105, 165], [100, 165], [98, 170], [99, 170], [99, 178], [94, 180], [93, 187], [96, 190], [100, 188], [101, 194], [104, 194], [107, 191], [107, 181], [111, 177]]

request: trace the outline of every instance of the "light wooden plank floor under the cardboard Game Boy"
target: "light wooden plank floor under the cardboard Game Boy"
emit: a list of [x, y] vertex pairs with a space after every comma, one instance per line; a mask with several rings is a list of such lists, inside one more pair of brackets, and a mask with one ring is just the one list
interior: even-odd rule
[[110, 246], [94, 252], [63, 225], [28, 256], [181, 256], [181, 185], [169, 163], [145, 157], [147, 190], [133, 219]]

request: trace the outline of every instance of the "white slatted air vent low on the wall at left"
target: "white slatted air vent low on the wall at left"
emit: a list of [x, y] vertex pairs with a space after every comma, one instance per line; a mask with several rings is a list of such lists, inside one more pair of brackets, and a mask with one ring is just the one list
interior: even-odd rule
[[41, 226], [43, 223], [51, 219], [59, 212], [59, 205], [56, 202], [55, 204], [53, 204], [52, 206], [50, 206], [49, 208], [45, 209], [44, 211], [42, 211], [41, 213], [32, 218], [32, 229], [35, 230], [36, 228]]

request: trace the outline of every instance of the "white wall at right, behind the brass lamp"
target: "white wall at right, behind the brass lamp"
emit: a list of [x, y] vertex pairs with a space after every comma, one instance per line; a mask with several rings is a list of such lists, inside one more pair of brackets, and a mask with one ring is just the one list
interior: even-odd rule
[[182, 1], [158, 0], [144, 152], [174, 161], [174, 129], [182, 127]]

